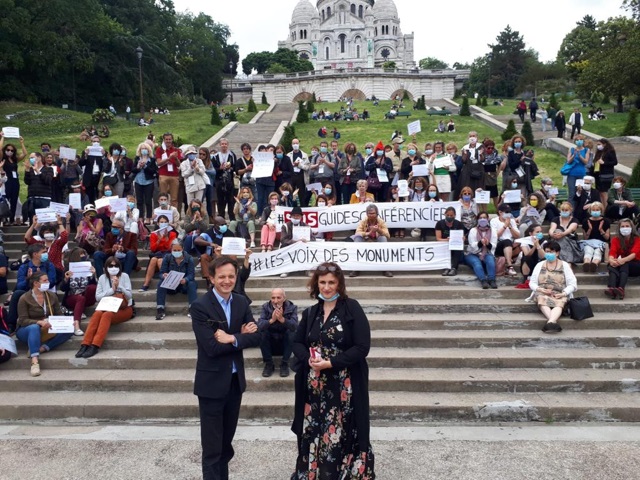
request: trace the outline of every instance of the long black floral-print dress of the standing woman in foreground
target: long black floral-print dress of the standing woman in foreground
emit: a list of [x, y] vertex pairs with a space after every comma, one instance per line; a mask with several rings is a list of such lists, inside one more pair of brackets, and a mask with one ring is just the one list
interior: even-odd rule
[[[343, 351], [344, 330], [335, 310], [326, 321], [323, 317], [323, 309], [319, 309], [320, 340], [311, 347], [319, 348], [322, 357], [328, 358]], [[358, 444], [349, 369], [319, 373], [310, 369], [306, 384], [302, 448], [292, 479], [375, 479], [373, 451], [369, 446], [361, 452]]]

